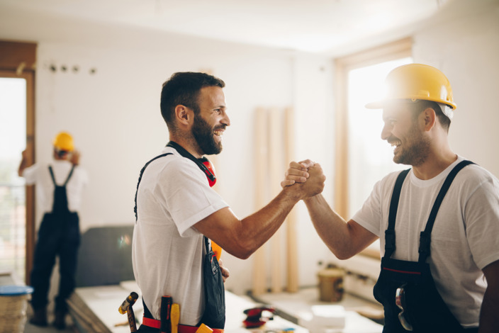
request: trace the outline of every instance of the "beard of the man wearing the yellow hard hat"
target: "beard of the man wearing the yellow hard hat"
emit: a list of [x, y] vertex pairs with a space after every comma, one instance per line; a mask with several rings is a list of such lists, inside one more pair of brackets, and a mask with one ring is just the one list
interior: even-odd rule
[[[388, 142], [391, 142], [391, 140], [388, 140]], [[397, 164], [419, 166], [426, 161], [430, 152], [430, 142], [421, 134], [419, 128], [417, 128], [417, 124], [414, 124], [413, 127], [410, 128], [407, 140], [405, 140], [405, 143], [401, 148], [402, 149], [400, 149], [398, 154], [393, 155], [393, 162], [396, 162]]]

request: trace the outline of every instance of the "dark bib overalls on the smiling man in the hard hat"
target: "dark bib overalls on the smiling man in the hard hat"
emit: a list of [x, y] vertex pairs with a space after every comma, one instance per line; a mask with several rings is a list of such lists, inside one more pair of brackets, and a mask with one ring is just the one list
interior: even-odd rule
[[385, 311], [383, 333], [408, 332], [398, 319], [398, 314], [402, 310], [396, 305], [396, 290], [400, 287], [403, 287], [405, 292], [403, 316], [412, 324], [413, 332], [473, 332], [471, 329], [461, 327], [461, 324], [452, 315], [437, 291], [430, 266], [426, 262], [426, 259], [430, 256], [430, 235], [440, 204], [456, 174], [464, 166], [471, 163], [470, 161], [463, 161], [457, 164], [445, 179], [442, 188], [440, 188], [425, 231], [420, 233], [419, 259], [417, 262], [391, 259], [391, 255], [396, 250], [395, 221], [398, 199], [409, 169], [400, 172], [398, 175], [390, 203], [388, 229], [385, 232], [385, 255], [381, 259], [381, 273], [376, 286], [374, 286], [374, 298], [383, 304]]

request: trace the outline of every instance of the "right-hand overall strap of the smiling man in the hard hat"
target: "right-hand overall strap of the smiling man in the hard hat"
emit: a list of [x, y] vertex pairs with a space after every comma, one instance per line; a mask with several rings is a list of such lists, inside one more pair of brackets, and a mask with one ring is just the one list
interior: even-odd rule
[[456, 174], [459, 171], [461, 171], [461, 169], [463, 169], [464, 166], [469, 164], [474, 164], [474, 163], [471, 161], [464, 160], [459, 162], [459, 164], [457, 164], [456, 166], [454, 166], [454, 169], [452, 169], [452, 171], [445, 179], [442, 188], [440, 188], [437, 198], [435, 199], [435, 202], [433, 204], [432, 211], [430, 212], [430, 217], [426, 222], [425, 231], [422, 231], [420, 233], [420, 247], [418, 249], [418, 252], [420, 254], [418, 259], [419, 262], [425, 262], [427, 257], [430, 256], [431, 233], [435, 222], [435, 218], [437, 218], [438, 210], [440, 208], [440, 205], [442, 204], [442, 201], [444, 200], [444, 196], [447, 194], [447, 191], [449, 190], [452, 181], [454, 181]]

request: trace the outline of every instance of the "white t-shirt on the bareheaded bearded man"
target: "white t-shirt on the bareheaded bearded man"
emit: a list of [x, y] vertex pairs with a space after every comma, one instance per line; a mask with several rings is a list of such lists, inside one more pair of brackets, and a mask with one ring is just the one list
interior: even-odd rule
[[133, 272], [145, 305], [159, 320], [161, 297], [179, 303], [181, 324], [195, 325], [204, 312], [203, 235], [193, 225], [228, 206], [190, 159], [165, 147], [142, 175], [133, 230]]

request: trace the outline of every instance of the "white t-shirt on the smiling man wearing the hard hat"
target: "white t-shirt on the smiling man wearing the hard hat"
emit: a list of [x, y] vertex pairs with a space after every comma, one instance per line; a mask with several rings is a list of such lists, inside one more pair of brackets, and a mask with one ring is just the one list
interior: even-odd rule
[[[417, 179], [411, 170], [400, 192], [396, 218], [396, 251], [392, 259], [417, 261], [419, 235], [433, 203], [458, 157], [441, 174]], [[385, 249], [393, 186], [398, 171], [379, 181], [352, 220], [379, 236]], [[437, 213], [427, 262], [449, 310], [464, 327], [478, 326], [486, 280], [481, 269], [499, 260], [499, 181], [481, 166], [471, 164], [454, 179]]]

